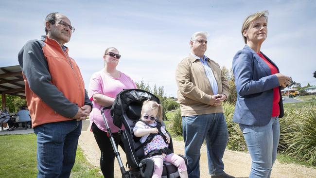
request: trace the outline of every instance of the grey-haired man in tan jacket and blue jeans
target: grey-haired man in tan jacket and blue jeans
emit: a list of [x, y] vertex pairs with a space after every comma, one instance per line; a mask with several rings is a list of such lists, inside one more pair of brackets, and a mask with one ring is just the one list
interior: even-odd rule
[[204, 55], [207, 36], [207, 32], [193, 34], [191, 53], [176, 69], [188, 174], [189, 178], [200, 177], [199, 150], [205, 139], [211, 178], [233, 178], [224, 172], [222, 161], [228, 130], [221, 104], [228, 98], [228, 81], [220, 66]]

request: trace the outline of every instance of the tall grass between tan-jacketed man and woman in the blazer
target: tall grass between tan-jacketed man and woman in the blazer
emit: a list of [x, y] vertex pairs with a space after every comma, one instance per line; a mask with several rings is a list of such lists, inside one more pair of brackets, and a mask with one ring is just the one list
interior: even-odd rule
[[243, 132], [240, 130], [237, 123], [232, 122], [235, 105], [225, 102], [223, 103], [223, 107], [229, 135], [227, 143], [228, 149], [236, 151], [246, 151], [247, 145], [243, 136]]

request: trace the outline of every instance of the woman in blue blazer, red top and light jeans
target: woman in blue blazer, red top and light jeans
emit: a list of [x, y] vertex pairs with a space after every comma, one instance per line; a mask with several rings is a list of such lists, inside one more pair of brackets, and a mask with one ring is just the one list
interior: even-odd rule
[[290, 78], [261, 51], [267, 36], [267, 11], [248, 16], [242, 27], [246, 46], [233, 58], [237, 102], [233, 121], [239, 123], [252, 159], [249, 178], [270, 178], [283, 117], [281, 87]]

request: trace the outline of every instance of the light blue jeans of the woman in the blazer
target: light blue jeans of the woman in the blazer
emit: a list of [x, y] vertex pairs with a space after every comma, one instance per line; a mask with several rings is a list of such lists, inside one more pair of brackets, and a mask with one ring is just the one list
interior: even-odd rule
[[239, 127], [252, 160], [249, 178], [270, 178], [280, 140], [279, 118], [272, 117], [264, 126], [239, 124]]

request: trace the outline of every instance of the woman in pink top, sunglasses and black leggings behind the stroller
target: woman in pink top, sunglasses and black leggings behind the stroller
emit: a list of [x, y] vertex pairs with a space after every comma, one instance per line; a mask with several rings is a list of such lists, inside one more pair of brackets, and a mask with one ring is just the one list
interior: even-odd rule
[[[111, 106], [116, 95], [123, 89], [136, 89], [135, 82], [126, 74], [116, 69], [121, 55], [116, 48], [110, 47], [105, 50], [103, 59], [105, 61], [104, 69], [93, 73], [88, 96], [93, 102], [93, 108], [90, 113], [90, 126], [94, 138], [101, 150], [100, 167], [105, 178], [114, 177], [114, 151], [111, 142], [106, 136], [105, 123], [101, 115], [102, 107]], [[121, 136], [118, 134], [119, 128], [113, 125], [113, 119], [110, 109], [105, 111], [105, 118], [113, 133], [116, 145], [121, 145]]]

